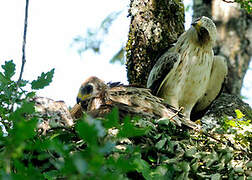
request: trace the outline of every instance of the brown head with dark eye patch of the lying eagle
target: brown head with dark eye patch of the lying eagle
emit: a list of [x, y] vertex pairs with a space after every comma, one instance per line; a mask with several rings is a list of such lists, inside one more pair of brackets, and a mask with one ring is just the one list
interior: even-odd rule
[[97, 77], [90, 77], [84, 83], [82, 83], [78, 95], [77, 104], [81, 103], [81, 106], [86, 109], [89, 99], [97, 96], [101, 90], [106, 87], [106, 84]]

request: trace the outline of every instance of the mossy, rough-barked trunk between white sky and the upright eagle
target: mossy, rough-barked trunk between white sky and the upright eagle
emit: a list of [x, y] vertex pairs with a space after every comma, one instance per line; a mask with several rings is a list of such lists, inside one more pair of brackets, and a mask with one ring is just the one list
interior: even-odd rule
[[182, 0], [131, 0], [127, 51], [130, 84], [146, 86], [151, 68], [184, 32]]

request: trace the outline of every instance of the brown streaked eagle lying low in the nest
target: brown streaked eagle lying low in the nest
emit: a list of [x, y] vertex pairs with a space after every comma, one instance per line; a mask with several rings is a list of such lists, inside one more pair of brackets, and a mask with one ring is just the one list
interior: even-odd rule
[[152, 95], [149, 89], [120, 83], [105, 84], [97, 77], [90, 77], [81, 85], [71, 114], [79, 118], [84, 110], [93, 117], [104, 117], [114, 107], [118, 108], [121, 119], [127, 115], [146, 119], [168, 118], [176, 125], [195, 128], [193, 122], [184, 123], [180, 112]]

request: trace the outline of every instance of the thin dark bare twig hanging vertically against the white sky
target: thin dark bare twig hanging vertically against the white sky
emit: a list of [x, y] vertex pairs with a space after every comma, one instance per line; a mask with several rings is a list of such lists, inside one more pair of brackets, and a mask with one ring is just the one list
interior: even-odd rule
[[20, 75], [18, 78], [18, 82], [17, 84], [20, 83], [21, 79], [22, 79], [22, 75], [24, 72], [24, 65], [26, 62], [26, 58], [25, 58], [25, 46], [26, 46], [26, 32], [27, 32], [27, 25], [28, 25], [28, 7], [29, 7], [29, 0], [26, 0], [26, 5], [25, 5], [25, 21], [24, 21], [24, 35], [23, 35], [23, 46], [22, 46], [22, 66], [21, 66], [21, 71], [20, 71]]

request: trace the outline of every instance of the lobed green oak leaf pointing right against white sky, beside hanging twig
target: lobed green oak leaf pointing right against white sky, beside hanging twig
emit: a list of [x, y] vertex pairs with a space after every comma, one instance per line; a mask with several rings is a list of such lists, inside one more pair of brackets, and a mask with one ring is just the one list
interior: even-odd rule
[[32, 89], [43, 89], [48, 86], [52, 82], [53, 75], [54, 69], [48, 71], [47, 73], [42, 72], [41, 76], [39, 76], [37, 80], [33, 80], [31, 82]]

